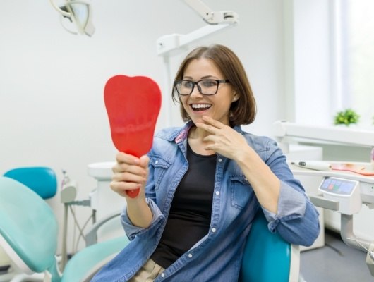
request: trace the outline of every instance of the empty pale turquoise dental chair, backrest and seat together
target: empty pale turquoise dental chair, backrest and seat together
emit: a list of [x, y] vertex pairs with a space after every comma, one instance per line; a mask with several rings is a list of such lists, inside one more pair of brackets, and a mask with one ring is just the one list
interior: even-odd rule
[[100, 242], [74, 255], [61, 273], [56, 260], [58, 223], [51, 207], [23, 183], [0, 177], [0, 245], [26, 274], [44, 272], [44, 282], [89, 281], [128, 243]]

